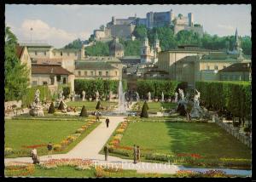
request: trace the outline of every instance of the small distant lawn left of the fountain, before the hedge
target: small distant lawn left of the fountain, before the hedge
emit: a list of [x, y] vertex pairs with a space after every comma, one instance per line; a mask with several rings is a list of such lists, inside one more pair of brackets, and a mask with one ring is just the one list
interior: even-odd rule
[[[95, 111], [96, 110], [96, 105], [97, 102], [96, 101], [70, 101], [66, 103], [67, 106], [72, 106], [72, 107], [83, 107], [83, 105], [85, 106], [85, 108], [87, 109], [87, 111]], [[101, 101], [102, 107], [106, 108], [106, 107], [111, 107], [113, 109], [114, 105], [117, 105], [117, 102], [108, 102], [108, 101]]]

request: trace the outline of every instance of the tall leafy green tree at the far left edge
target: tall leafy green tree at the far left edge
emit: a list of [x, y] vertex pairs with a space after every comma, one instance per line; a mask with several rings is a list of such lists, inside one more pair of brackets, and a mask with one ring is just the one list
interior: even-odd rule
[[20, 100], [28, 87], [29, 71], [16, 55], [17, 38], [5, 27], [4, 91], [5, 100]]

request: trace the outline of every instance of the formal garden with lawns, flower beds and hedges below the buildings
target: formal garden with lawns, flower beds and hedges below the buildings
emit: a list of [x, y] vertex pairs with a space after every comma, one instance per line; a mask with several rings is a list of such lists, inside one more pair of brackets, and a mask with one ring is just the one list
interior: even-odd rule
[[[249, 173], [252, 163], [249, 83], [196, 82], [201, 93], [200, 117], [190, 119], [184, 108], [188, 108], [188, 100], [198, 100], [194, 97], [195, 90], [189, 89], [185, 82], [138, 81], [137, 92], [129, 91], [126, 84], [77, 81], [73, 93], [70, 88], [60, 87], [55, 94], [50, 94], [44, 86], [30, 88], [20, 108], [5, 111], [4, 156], [13, 160], [4, 169], [5, 175], [176, 178], [247, 175], [227, 172], [236, 169]], [[120, 94], [124, 100], [119, 100]], [[43, 115], [24, 111], [40, 107]], [[96, 122], [97, 111], [101, 122]], [[190, 111], [194, 116], [192, 112], [195, 108]], [[140, 162], [169, 162], [179, 168], [176, 173], [139, 173], [136, 168], [96, 166], [87, 156], [65, 157], [105, 125], [102, 122], [107, 117], [119, 121], [105, 141], [109, 156], [131, 161], [133, 145], [139, 145]], [[53, 158], [47, 158], [49, 141], [53, 143]], [[104, 155], [104, 145], [101, 147], [95, 155]], [[39, 164], [15, 162], [16, 157], [30, 158], [34, 148], [44, 158]], [[64, 156], [55, 158], [57, 155]]]

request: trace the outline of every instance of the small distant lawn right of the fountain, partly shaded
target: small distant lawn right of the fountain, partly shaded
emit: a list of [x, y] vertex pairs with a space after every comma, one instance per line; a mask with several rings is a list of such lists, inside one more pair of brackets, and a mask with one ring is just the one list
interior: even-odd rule
[[[143, 101], [139, 101], [138, 104], [140, 105], [140, 108], [143, 108]], [[163, 107], [166, 110], [170, 110], [176, 107], [176, 103], [162, 103], [162, 102], [148, 102], [149, 112], [158, 112], [160, 111], [160, 108]]]

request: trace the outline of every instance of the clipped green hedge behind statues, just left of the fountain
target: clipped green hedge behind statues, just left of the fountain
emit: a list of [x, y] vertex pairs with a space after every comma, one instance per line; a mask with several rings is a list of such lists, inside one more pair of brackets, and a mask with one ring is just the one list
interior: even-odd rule
[[[122, 80], [123, 90], [127, 90], [127, 82], [126, 80]], [[99, 94], [107, 95], [110, 91], [113, 94], [118, 93], [119, 88], [119, 80], [103, 80], [101, 78], [95, 80], [84, 80], [77, 79], [74, 81], [74, 90], [76, 94], [82, 94], [83, 90], [86, 93], [86, 98], [89, 99], [95, 97], [96, 90], [99, 91]]]

